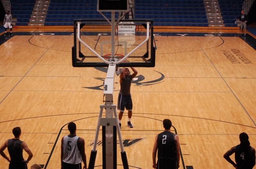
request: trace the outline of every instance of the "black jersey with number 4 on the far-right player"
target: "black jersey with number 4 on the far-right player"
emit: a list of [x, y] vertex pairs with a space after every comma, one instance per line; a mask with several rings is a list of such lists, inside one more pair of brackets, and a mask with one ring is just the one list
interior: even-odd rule
[[236, 146], [235, 150], [235, 160], [238, 169], [252, 169], [252, 147], [249, 146], [247, 149], [243, 150], [239, 145]]

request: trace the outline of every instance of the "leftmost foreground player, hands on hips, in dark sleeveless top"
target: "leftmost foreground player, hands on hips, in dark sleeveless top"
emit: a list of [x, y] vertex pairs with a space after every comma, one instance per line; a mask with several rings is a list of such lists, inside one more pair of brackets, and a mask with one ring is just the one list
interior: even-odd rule
[[[10, 162], [9, 169], [27, 169], [28, 161], [33, 157], [32, 152], [29, 150], [28, 145], [20, 140], [21, 130], [20, 127], [15, 127], [12, 129], [12, 133], [14, 138], [6, 140], [4, 144], [0, 147], [0, 154], [7, 161]], [[4, 150], [7, 147], [8, 152], [10, 154], [10, 158], [8, 158], [4, 154]], [[22, 152], [23, 149], [28, 153], [28, 159], [24, 160]]]

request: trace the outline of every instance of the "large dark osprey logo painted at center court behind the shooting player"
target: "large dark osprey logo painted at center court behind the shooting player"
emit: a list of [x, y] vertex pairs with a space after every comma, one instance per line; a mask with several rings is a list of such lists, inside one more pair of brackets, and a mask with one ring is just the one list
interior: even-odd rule
[[[107, 73], [108, 69], [106, 67], [94, 67], [97, 70], [100, 70], [102, 72]], [[121, 72], [122, 69], [119, 69], [119, 71]], [[155, 71], [155, 70], [154, 70]], [[157, 71], [155, 71], [157, 72]], [[160, 78], [153, 80], [153, 81], [145, 81], [143, 82], [143, 80], [145, 80], [145, 77], [143, 75], [139, 75], [136, 76], [135, 78], [133, 78], [132, 83], [134, 84], [134, 86], [149, 86], [149, 85], [154, 85], [157, 83], [162, 83], [163, 79], [164, 79], [164, 74], [157, 72], [161, 75]], [[102, 77], [94, 77], [94, 79], [100, 80], [100, 81], [104, 81], [105, 78]], [[117, 82], [115, 82], [115, 84], [117, 84]], [[94, 89], [94, 90], [103, 90], [103, 84], [99, 85], [99, 86], [93, 86], [93, 87], [83, 87], [83, 88], [89, 88], [89, 89]]]

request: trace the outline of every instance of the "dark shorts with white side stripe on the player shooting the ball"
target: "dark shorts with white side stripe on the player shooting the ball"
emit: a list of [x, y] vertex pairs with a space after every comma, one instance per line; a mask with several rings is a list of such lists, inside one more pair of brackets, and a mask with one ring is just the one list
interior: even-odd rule
[[120, 111], [126, 110], [132, 111], [132, 96], [130, 95], [118, 95], [117, 109]]

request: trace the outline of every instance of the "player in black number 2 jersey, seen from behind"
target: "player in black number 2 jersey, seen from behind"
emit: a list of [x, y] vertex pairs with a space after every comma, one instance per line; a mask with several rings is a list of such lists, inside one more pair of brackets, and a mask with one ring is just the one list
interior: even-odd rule
[[[172, 133], [172, 122], [164, 119], [164, 132], [156, 136], [152, 158], [153, 168], [177, 169], [180, 167], [180, 143], [178, 135]], [[157, 151], [158, 149], [158, 151]], [[157, 163], [156, 163], [157, 151]]]

